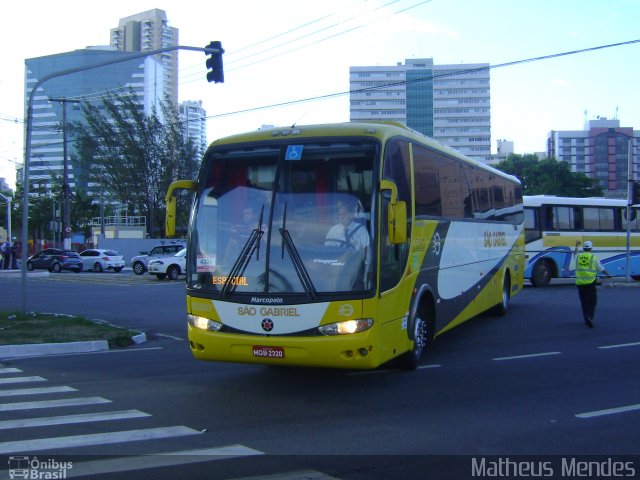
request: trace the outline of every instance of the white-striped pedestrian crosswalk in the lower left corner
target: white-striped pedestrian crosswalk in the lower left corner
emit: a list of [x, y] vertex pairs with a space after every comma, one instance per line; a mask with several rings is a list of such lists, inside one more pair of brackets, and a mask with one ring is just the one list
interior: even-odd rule
[[[77, 388], [69, 385], [47, 383], [48, 380], [44, 377], [25, 374], [19, 368], [0, 364], [0, 455], [9, 456], [9, 471], [3, 471], [6, 465], [0, 465], [0, 478], [13, 478], [11, 473], [16, 474], [16, 471], [12, 471], [12, 461], [15, 464], [13, 467], [22, 462], [20, 473], [24, 473], [25, 462], [28, 467], [28, 459], [33, 458], [30, 455], [39, 455], [41, 458], [50, 452], [80, 455], [87, 447], [130, 445], [132, 442], [202, 435], [200, 430], [186, 425], [158, 425], [159, 422], [153, 415], [141, 410], [104, 410], [105, 406], [113, 406], [114, 402], [102, 396], [83, 396]], [[70, 411], [70, 408], [75, 411]], [[46, 415], [37, 415], [37, 412], [42, 411]], [[127, 425], [125, 428], [122, 428], [123, 421]], [[116, 422], [120, 423], [114, 427]], [[84, 425], [93, 427], [82, 428], [83, 433], [78, 433], [77, 427]], [[131, 428], [134, 425], [139, 428]], [[55, 430], [52, 430], [53, 427]], [[52, 435], [51, 432], [55, 434]], [[121, 459], [109, 457], [74, 463], [72, 473], [73, 476], [81, 472], [94, 475], [263, 454], [243, 445], [184, 450], [184, 445], [178, 441], [176, 445], [178, 443], [181, 448], [169, 452], [153, 452], [151, 447], [151, 453], [157, 455], [149, 455], [148, 448], [140, 456], [131, 456], [130, 452], [123, 450], [129, 455], [123, 455]], [[167, 444], [164, 445], [163, 448], [166, 449]]]

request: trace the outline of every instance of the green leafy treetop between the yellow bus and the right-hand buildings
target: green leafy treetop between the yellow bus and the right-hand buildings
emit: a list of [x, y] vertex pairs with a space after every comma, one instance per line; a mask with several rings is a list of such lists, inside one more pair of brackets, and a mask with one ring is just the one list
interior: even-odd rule
[[572, 172], [567, 162], [555, 158], [538, 159], [537, 155], [510, 154], [496, 165], [522, 182], [525, 195], [558, 195], [564, 197], [600, 197], [602, 188], [597, 180], [582, 172]]

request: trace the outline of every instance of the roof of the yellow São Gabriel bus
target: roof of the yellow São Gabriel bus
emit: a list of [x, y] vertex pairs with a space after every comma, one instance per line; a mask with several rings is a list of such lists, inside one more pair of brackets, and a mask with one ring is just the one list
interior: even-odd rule
[[403, 136], [409, 138], [410, 140], [420, 142], [428, 147], [431, 147], [434, 150], [439, 150], [446, 155], [457, 158], [477, 168], [491, 171], [492, 173], [507, 178], [512, 182], [518, 184], [520, 183], [520, 180], [515, 176], [509, 175], [485, 163], [469, 158], [459, 151], [447, 145], [443, 145], [440, 142], [437, 142], [434, 139], [427, 137], [426, 135], [423, 135], [422, 133], [417, 132], [399, 122], [343, 122], [317, 125], [294, 125], [291, 127], [272, 127], [266, 128], [264, 130], [256, 130], [220, 138], [211, 143], [210, 147], [244, 142], [265, 142], [283, 137], [295, 139], [327, 136], [371, 136], [374, 138], [378, 138], [383, 142], [392, 137]]

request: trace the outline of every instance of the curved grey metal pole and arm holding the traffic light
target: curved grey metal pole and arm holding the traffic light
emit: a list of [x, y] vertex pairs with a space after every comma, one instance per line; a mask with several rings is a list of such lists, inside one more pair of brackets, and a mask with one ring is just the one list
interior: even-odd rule
[[22, 234], [21, 234], [21, 242], [22, 249], [20, 262], [20, 276], [21, 276], [21, 284], [22, 284], [22, 293], [21, 293], [21, 313], [26, 313], [27, 311], [27, 258], [28, 258], [28, 231], [29, 231], [29, 161], [31, 160], [31, 130], [33, 123], [33, 100], [34, 93], [38, 91], [38, 89], [49, 80], [53, 78], [63, 77], [65, 75], [71, 75], [74, 73], [85, 72], [87, 70], [93, 70], [94, 68], [106, 67], [109, 65], [116, 65], [118, 63], [129, 62], [131, 60], [136, 60], [138, 58], [150, 57], [153, 55], [158, 55], [159, 53], [172, 52], [174, 50], [190, 50], [193, 52], [205, 52], [207, 54], [215, 54], [220, 53], [222, 50], [220, 49], [212, 49], [209, 47], [201, 48], [201, 47], [188, 47], [176, 45], [173, 47], [161, 48], [158, 50], [150, 50], [148, 52], [142, 52], [139, 54], [127, 55], [124, 58], [109, 60], [106, 62], [95, 63], [92, 65], [84, 65], [82, 67], [70, 68], [68, 70], [61, 70], [59, 72], [50, 73], [49, 75], [45, 75], [40, 80], [38, 80], [35, 85], [31, 88], [31, 92], [29, 93], [29, 98], [27, 100], [27, 118], [25, 122], [25, 149], [24, 149], [24, 165], [22, 166], [23, 172], [23, 189], [22, 189]]

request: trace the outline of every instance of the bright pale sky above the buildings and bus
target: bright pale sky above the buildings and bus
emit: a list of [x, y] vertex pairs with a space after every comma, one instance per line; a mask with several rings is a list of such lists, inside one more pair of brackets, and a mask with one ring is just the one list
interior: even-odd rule
[[[181, 45], [220, 40], [226, 50], [224, 84], [207, 83], [203, 53], [180, 53], [179, 97], [203, 101], [209, 142], [262, 125], [348, 121], [350, 66], [501, 65], [640, 39], [640, 0], [4, 2], [0, 177], [13, 185], [23, 161], [25, 59], [108, 45], [121, 18], [153, 8]], [[498, 139], [517, 153], [544, 151], [550, 130], [582, 130], [598, 116], [640, 129], [639, 59], [634, 43], [492, 69], [492, 151]]]

